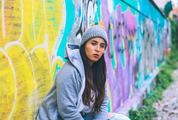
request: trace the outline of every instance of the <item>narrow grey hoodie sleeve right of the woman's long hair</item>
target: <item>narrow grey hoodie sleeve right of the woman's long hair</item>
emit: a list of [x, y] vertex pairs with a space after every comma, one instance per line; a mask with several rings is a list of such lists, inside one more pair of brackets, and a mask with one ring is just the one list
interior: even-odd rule
[[108, 113], [108, 92], [107, 92], [107, 86], [105, 85], [105, 97], [101, 105], [101, 112], [95, 114], [94, 120], [106, 120], [107, 113]]

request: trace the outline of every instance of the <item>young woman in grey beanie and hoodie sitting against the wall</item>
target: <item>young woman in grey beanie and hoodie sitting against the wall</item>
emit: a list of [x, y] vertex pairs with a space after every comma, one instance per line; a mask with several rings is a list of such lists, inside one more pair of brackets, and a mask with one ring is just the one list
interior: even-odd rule
[[68, 61], [44, 98], [37, 120], [105, 120], [108, 98], [104, 52], [108, 38], [95, 25], [82, 36], [80, 46], [68, 44]]

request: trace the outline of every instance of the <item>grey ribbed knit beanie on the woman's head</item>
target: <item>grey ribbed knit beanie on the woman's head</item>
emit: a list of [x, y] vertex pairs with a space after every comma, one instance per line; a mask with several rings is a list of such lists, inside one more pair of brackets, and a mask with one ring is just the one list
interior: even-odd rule
[[91, 38], [95, 38], [95, 37], [103, 38], [107, 46], [108, 44], [107, 33], [100, 25], [91, 26], [87, 31], [84, 32], [80, 46], [82, 46]]

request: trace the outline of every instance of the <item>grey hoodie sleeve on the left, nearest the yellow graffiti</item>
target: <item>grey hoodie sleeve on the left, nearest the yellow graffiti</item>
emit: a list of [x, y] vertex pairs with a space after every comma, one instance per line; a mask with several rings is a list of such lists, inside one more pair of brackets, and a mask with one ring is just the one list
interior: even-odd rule
[[83, 120], [78, 111], [79, 74], [72, 67], [61, 69], [56, 78], [57, 107], [64, 120]]

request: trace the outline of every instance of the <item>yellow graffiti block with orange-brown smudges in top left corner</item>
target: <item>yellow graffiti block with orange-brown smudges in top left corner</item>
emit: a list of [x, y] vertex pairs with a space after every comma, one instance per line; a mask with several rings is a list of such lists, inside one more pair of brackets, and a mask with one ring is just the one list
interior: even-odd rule
[[1, 35], [0, 47], [6, 43], [16, 41], [21, 34], [21, 5], [19, 0], [1, 1]]

